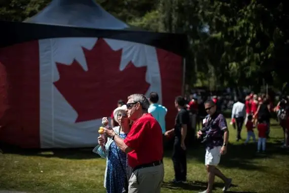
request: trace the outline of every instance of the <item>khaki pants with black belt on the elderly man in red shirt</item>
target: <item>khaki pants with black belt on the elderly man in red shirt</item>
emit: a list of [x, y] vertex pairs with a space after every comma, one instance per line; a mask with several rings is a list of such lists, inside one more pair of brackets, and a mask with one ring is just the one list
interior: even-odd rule
[[128, 182], [129, 193], [160, 193], [164, 179], [164, 165], [141, 168], [132, 172]]

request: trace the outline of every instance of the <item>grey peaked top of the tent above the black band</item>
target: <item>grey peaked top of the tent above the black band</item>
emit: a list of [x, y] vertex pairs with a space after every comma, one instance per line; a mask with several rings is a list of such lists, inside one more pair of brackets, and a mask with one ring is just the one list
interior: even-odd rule
[[53, 0], [44, 10], [24, 22], [100, 29], [129, 27], [92, 0]]

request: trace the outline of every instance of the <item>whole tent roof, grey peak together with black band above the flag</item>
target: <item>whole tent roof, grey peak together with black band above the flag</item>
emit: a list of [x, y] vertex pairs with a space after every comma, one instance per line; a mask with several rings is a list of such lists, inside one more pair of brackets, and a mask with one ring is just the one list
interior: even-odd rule
[[0, 21], [0, 26], [5, 29], [0, 36], [0, 48], [32, 40], [68, 37], [130, 41], [183, 56], [188, 46], [184, 34], [138, 30], [115, 18], [92, 0], [53, 0], [44, 10], [24, 22]]

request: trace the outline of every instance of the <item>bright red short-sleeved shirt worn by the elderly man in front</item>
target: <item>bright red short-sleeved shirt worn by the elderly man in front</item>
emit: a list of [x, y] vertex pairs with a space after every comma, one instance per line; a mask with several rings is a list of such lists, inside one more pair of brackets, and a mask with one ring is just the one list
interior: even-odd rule
[[124, 143], [133, 149], [128, 153], [128, 165], [132, 168], [163, 158], [162, 129], [151, 114], [134, 121]]

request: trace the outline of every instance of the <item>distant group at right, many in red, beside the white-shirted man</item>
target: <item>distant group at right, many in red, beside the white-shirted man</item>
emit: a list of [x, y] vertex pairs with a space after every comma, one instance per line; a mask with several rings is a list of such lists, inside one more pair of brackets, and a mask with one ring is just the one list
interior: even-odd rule
[[247, 139], [245, 144], [248, 143], [250, 138], [256, 142], [254, 128], [258, 130], [258, 152], [266, 150], [266, 140], [270, 138], [270, 119], [275, 113], [280, 126], [284, 133], [283, 148], [288, 148], [288, 130], [289, 130], [289, 99], [281, 97], [276, 106], [268, 95], [251, 93], [245, 97], [245, 102], [238, 99], [233, 105], [231, 124], [237, 129], [236, 140], [241, 139], [241, 131], [243, 123], [247, 128]]

